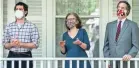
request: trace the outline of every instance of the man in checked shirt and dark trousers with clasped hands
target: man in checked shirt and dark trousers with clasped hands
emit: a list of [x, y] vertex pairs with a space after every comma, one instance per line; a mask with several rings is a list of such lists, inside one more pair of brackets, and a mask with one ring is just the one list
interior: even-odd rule
[[[38, 48], [39, 32], [37, 27], [25, 17], [28, 14], [28, 5], [18, 2], [14, 8], [16, 21], [7, 24], [4, 30], [3, 45], [9, 50], [8, 58], [30, 58], [31, 50]], [[11, 68], [11, 61], [7, 62], [7, 68]], [[18, 61], [14, 62], [14, 68], [19, 68]], [[21, 68], [27, 68], [26, 61], [22, 61]], [[33, 68], [32, 61], [29, 68]]]

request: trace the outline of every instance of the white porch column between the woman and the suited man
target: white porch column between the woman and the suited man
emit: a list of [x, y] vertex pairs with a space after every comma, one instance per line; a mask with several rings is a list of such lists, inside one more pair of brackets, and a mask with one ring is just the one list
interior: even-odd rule
[[[103, 46], [106, 24], [109, 22], [109, 0], [100, 1], [100, 44], [99, 44], [99, 55], [103, 57]], [[102, 63], [102, 68], [105, 68], [104, 62]]]

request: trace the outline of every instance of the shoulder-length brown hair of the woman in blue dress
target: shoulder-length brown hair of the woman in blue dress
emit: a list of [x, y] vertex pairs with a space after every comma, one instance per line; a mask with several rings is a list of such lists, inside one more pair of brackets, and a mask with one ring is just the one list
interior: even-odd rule
[[81, 21], [80, 17], [78, 16], [78, 14], [72, 12], [72, 13], [68, 13], [66, 15], [66, 18], [65, 18], [65, 26], [66, 26], [67, 30], [70, 30], [70, 28], [66, 24], [67, 23], [67, 18], [68, 18], [69, 15], [75, 16], [76, 21], [78, 21], [78, 24], [76, 24], [76, 28], [78, 28], [78, 29], [81, 28], [82, 27], [82, 21]]

